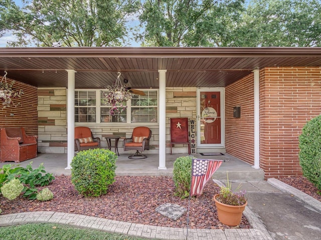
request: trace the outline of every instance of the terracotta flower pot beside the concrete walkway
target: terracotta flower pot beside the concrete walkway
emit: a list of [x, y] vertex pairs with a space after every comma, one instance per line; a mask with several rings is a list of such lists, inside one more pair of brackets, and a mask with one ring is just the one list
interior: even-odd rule
[[220, 222], [228, 226], [239, 225], [241, 223], [242, 213], [247, 205], [247, 202], [240, 206], [227, 205], [216, 200], [217, 196], [219, 196], [219, 194], [216, 194], [213, 199], [215, 201]]

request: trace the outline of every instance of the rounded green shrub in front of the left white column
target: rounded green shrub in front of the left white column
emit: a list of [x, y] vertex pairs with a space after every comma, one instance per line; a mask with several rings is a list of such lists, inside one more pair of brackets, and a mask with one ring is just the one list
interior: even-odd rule
[[107, 149], [78, 152], [71, 162], [71, 182], [75, 189], [84, 196], [105, 194], [115, 181], [116, 159], [116, 154]]

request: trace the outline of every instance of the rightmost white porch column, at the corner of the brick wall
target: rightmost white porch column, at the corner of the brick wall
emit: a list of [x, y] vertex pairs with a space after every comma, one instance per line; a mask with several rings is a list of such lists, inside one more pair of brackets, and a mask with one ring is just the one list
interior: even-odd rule
[[259, 70], [254, 72], [254, 166], [260, 169], [260, 75]]

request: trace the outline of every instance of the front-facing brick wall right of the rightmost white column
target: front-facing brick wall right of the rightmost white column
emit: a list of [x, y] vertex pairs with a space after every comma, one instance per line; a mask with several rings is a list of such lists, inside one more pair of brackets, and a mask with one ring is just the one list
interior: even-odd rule
[[260, 78], [261, 168], [267, 178], [301, 175], [298, 135], [321, 113], [321, 68], [270, 67]]

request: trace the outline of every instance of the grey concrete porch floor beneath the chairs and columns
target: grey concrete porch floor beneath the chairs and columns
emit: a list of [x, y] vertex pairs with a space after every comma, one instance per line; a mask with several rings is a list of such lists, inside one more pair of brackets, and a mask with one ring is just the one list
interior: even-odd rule
[[[187, 153], [166, 154], [166, 170], [158, 170], [158, 154], [147, 154], [144, 159], [129, 159], [130, 154], [120, 154], [116, 161], [116, 175], [173, 175], [173, 163], [179, 156], [188, 155]], [[226, 172], [230, 180], [263, 180], [264, 172], [262, 169], [254, 169], [250, 164], [231, 156], [228, 153], [224, 155], [203, 156], [199, 153], [193, 155], [195, 158], [202, 159], [225, 159], [222, 165], [214, 173], [213, 178], [218, 180], [226, 180]], [[26, 166], [30, 162], [33, 168], [37, 168], [40, 163], [44, 163], [45, 170], [55, 175], [65, 174], [70, 175], [71, 170], [67, 167], [67, 154], [64, 153], [39, 153], [36, 158], [26, 160], [20, 163], [15, 162], [0, 162], [0, 167], [4, 164], [19, 164]]]

